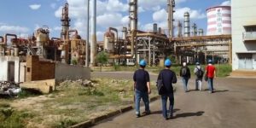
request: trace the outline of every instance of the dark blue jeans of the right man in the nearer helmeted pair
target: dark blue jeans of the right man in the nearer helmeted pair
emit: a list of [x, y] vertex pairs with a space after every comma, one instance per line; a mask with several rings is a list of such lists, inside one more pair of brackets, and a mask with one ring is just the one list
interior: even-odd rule
[[[167, 103], [168, 98], [169, 98], [170, 105], [169, 105], [169, 110], [167, 111], [166, 103]], [[162, 113], [163, 113], [164, 118], [167, 118], [167, 112], [170, 113], [170, 116], [172, 116], [172, 114], [173, 114], [173, 105], [174, 105], [173, 93], [162, 95], [161, 99], [162, 99]]]

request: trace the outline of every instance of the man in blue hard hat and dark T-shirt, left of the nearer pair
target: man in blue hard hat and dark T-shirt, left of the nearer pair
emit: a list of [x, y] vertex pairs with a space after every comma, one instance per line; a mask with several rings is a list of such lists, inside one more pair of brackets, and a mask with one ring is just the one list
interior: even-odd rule
[[143, 98], [143, 102], [145, 104], [145, 113], [146, 114], [150, 113], [148, 94], [151, 93], [149, 74], [145, 70], [147, 63], [146, 61], [142, 60], [140, 61], [139, 65], [140, 65], [140, 68], [133, 74], [134, 90], [135, 90], [135, 109], [136, 109], [137, 118], [141, 116], [141, 113], [140, 113], [141, 98]]

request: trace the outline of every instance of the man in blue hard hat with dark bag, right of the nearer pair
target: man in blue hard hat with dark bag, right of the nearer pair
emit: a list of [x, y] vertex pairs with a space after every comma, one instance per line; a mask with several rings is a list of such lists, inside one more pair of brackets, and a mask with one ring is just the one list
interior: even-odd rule
[[[165, 91], [161, 94], [162, 100], [162, 113], [165, 119], [172, 119], [173, 117], [173, 105], [174, 105], [174, 95], [173, 95], [173, 87], [172, 84], [177, 83], [176, 74], [170, 70], [172, 66], [172, 61], [167, 59], [165, 61], [165, 69], [160, 71], [158, 75], [158, 80], [161, 79], [164, 84]], [[166, 110], [166, 102], [169, 98], [170, 106], [167, 112]]]

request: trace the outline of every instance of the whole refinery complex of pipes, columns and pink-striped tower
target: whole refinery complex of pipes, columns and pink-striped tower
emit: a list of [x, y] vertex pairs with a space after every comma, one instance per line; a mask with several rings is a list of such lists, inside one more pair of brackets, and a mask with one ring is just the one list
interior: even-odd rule
[[[183, 61], [190, 64], [194, 64], [195, 61], [205, 63], [210, 58], [216, 63], [232, 62], [230, 7], [219, 6], [207, 9], [208, 28], [205, 35], [200, 26], [190, 22], [189, 12], [184, 13], [183, 21], [174, 24], [175, 0], [167, 0], [168, 32], [163, 32], [157, 24], [152, 25], [153, 31], [144, 32], [137, 27], [139, 20], [137, 1], [129, 1], [129, 27], [123, 27], [122, 32], [119, 32], [118, 29], [109, 26], [103, 42], [99, 44], [96, 39], [96, 0], [91, 0], [90, 7], [88, 4], [88, 10], [89, 8], [91, 10], [91, 28], [88, 34], [90, 40], [88, 37], [86, 40], [81, 38], [77, 30], [70, 29], [71, 19], [66, 3], [62, 9], [60, 37], [50, 38], [47, 26], [38, 28], [29, 38], [18, 38], [15, 34], [6, 33], [0, 37], [0, 55], [3, 60], [0, 64], [4, 64], [8, 71], [12, 67], [22, 69], [24, 70], [22, 73], [26, 76], [31, 72], [28, 67], [30, 64], [27, 63], [31, 60], [29, 55], [38, 56], [38, 61], [42, 63], [48, 61], [86, 67], [96, 66], [96, 55], [101, 51], [108, 53], [109, 65], [113, 63], [136, 65], [138, 61], [145, 59], [149, 66], [156, 66], [167, 56], [175, 57], [177, 64]], [[177, 37], [174, 36], [175, 27], [178, 31]], [[26, 62], [24, 69], [20, 66], [21, 62]], [[13, 74], [20, 75], [20, 72], [15, 71]], [[10, 77], [9, 74], [0, 77], [1, 80], [8, 78], [14, 77]], [[16, 78], [20, 79], [20, 76]], [[28, 78], [31, 76], [26, 77]]]

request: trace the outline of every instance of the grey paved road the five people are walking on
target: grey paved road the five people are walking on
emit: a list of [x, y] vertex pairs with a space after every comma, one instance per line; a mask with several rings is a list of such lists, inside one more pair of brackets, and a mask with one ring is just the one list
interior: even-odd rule
[[[92, 73], [93, 78], [107, 77], [131, 79], [132, 73]], [[156, 78], [151, 74], [152, 80]], [[152, 102], [153, 112], [136, 118], [134, 110], [107, 119], [96, 128], [255, 128], [256, 127], [256, 79], [216, 79], [216, 92], [195, 91], [194, 79], [189, 82], [188, 93], [183, 92], [178, 79], [175, 93], [175, 119], [165, 120], [161, 115], [160, 100]], [[207, 84], [203, 83], [207, 89]], [[143, 108], [142, 108], [143, 111]]]

